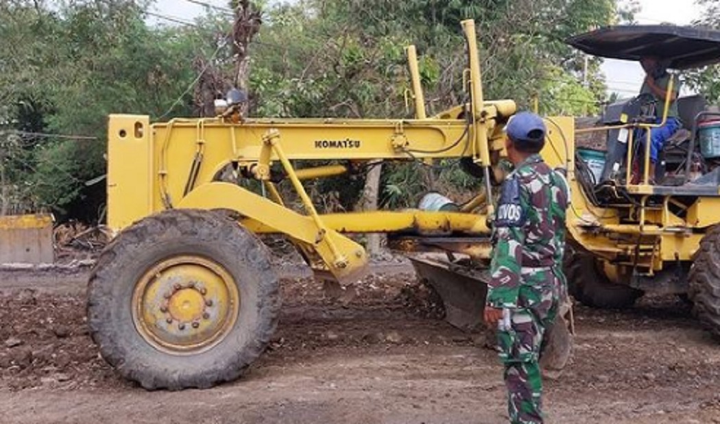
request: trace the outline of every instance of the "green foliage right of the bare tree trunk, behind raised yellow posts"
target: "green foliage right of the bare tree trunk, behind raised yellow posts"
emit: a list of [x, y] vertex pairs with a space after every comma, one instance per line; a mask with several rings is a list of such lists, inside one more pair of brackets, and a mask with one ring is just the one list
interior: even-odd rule
[[[528, 108], [537, 93], [546, 114], [585, 115], [605, 97], [600, 60], [588, 61], [583, 85], [584, 56], [564, 39], [615, 22], [618, 10], [613, 0], [301, 0], [270, 7], [266, 17], [252, 53], [258, 115], [408, 116], [402, 46], [410, 43], [420, 52], [428, 113], [462, 103], [467, 64], [459, 22], [468, 18], [477, 21], [487, 98], [514, 98]], [[413, 206], [431, 183], [477, 188], [477, 180], [448, 169], [386, 167], [382, 206]]]

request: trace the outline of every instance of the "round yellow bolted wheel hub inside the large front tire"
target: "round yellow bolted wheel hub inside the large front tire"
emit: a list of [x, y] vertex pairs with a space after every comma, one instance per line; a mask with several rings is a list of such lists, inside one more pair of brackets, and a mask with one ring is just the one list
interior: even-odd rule
[[220, 264], [182, 256], [148, 269], [135, 286], [132, 305], [135, 328], [156, 349], [197, 354], [233, 328], [240, 294]]

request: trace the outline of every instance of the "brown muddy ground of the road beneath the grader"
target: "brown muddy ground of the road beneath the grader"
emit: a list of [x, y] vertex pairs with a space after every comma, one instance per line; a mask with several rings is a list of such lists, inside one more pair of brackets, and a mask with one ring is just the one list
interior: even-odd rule
[[[238, 382], [184, 392], [146, 392], [104, 364], [82, 274], [49, 285], [0, 275], [0, 423], [505, 422], [486, 335], [438, 319], [401, 271], [380, 269], [340, 301], [285, 278], [271, 349]], [[576, 318], [575, 358], [546, 383], [549, 423], [720, 423], [720, 343], [688, 305], [649, 298]]]

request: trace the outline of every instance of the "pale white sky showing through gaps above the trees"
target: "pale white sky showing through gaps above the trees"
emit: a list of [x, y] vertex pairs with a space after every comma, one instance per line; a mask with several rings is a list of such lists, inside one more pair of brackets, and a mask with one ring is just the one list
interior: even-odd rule
[[[226, 6], [226, 0], [199, 0], [215, 6]], [[677, 25], [690, 24], [701, 15], [701, 7], [694, 0], [639, 0], [641, 11], [636, 14], [639, 24], [671, 23]], [[204, 12], [204, 6], [189, 0], [157, 0], [155, 11], [167, 17], [192, 20]], [[157, 18], [156, 18], [157, 19]], [[161, 22], [158, 20], [158, 22]], [[644, 73], [636, 62], [607, 59], [603, 63], [608, 93], [617, 92], [621, 96], [633, 96], [640, 86]]]

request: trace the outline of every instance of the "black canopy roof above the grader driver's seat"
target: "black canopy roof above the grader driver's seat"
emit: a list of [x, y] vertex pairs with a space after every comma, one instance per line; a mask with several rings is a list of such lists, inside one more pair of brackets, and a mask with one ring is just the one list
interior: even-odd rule
[[720, 31], [673, 25], [621, 25], [576, 35], [567, 44], [590, 55], [640, 60], [670, 60], [672, 69], [698, 68], [720, 62]]

